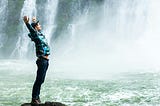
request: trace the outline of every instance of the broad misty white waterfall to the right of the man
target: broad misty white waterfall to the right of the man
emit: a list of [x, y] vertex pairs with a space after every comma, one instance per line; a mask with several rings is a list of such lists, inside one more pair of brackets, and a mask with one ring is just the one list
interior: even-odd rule
[[58, 53], [55, 71], [96, 78], [160, 70], [159, 5], [158, 0], [109, 0], [94, 15], [82, 14], [70, 24], [71, 39]]

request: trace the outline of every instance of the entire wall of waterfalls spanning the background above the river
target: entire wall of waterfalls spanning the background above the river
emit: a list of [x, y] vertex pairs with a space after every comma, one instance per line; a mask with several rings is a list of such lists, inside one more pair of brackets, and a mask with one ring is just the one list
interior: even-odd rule
[[[14, 49], [11, 57], [23, 58], [30, 52], [35, 54], [34, 44], [27, 36], [28, 30], [22, 20], [24, 15], [28, 15], [30, 19], [37, 16], [40, 20], [49, 45], [54, 44], [54, 57], [59, 61], [69, 60], [88, 67], [103, 67], [103, 70], [114, 66], [123, 69], [156, 64], [159, 67], [159, 0], [24, 0], [23, 7], [16, 10], [21, 11], [19, 25], [15, 28], [18, 31], [12, 30], [15, 26], [7, 27], [11, 29], [11, 32], [6, 32], [10, 38], [14, 38], [12, 31], [18, 35], [10, 48], [7, 48], [10, 43], [4, 45], [7, 39], [4, 28], [10, 19], [5, 14], [14, 7], [9, 8], [8, 2], [0, 1], [3, 24], [0, 25], [0, 47], [6, 46], [4, 49], [10, 51]], [[56, 36], [54, 43], [51, 42], [53, 36]]]

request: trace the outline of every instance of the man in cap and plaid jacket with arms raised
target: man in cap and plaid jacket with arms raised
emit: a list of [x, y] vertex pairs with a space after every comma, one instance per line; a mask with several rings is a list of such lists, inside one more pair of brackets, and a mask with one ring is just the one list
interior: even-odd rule
[[23, 20], [29, 30], [28, 36], [35, 43], [36, 47], [36, 56], [37, 56], [37, 76], [32, 89], [32, 101], [31, 104], [40, 104], [40, 89], [41, 85], [45, 80], [46, 71], [49, 65], [48, 56], [50, 55], [50, 49], [47, 43], [45, 36], [41, 33], [41, 25], [39, 21], [36, 22], [36, 19], [33, 18], [32, 24], [29, 24], [28, 16], [24, 16]]

